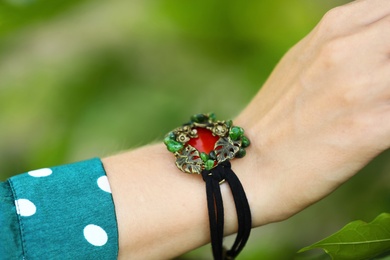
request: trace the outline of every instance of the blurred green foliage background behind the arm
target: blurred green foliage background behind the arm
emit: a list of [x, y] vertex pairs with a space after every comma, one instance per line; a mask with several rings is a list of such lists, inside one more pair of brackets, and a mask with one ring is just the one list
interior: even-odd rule
[[[282, 55], [345, 2], [1, 1], [0, 179], [160, 140], [197, 112], [234, 118]], [[389, 158], [256, 229], [239, 259], [326, 259], [295, 252], [390, 211]], [[210, 255], [206, 246], [181, 258]]]

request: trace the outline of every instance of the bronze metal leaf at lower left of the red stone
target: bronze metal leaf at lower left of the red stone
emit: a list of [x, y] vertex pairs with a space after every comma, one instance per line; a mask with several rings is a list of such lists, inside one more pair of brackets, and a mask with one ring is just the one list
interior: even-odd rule
[[176, 155], [176, 165], [183, 172], [200, 173], [202, 163], [198, 150], [191, 145], [186, 146], [181, 154]]

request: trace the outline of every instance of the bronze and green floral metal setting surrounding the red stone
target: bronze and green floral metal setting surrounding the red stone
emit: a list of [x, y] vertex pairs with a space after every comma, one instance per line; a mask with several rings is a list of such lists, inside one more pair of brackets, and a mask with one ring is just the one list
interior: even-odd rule
[[[214, 137], [219, 137], [214, 149], [209, 153], [200, 152], [188, 143], [199, 137], [197, 129], [200, 128], [209, 130]], [[250, 144], [241, 127], [233, 126], [231, 120], [216, 120], [214, 113], [192, 116], [189, 123], [169, 132], [164, 143], [175, 155], [177, 168], [186, 173], [197, 174], [204, 169], [210, 170], [223, 161], [244, 157], [245, 148]]]

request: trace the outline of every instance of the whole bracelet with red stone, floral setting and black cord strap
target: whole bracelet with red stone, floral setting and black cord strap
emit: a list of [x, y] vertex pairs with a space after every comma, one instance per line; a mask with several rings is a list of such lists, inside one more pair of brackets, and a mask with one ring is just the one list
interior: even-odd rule
[[[164, 143], [185, 173], [201, 174], [206, 183], [211, 246], [214, 259], [234, 259], [244, 248], [252, 228], [249, 203], [230, 160], [242, 158], [250, 145], [244, 129], [231, 120], [218, 121], [214, 113], [196, 114], [169, 132]], [[220, 185], [227, 182], [236, 206], [238, 231], [230, 250], [223, 248], [224, 210]]]

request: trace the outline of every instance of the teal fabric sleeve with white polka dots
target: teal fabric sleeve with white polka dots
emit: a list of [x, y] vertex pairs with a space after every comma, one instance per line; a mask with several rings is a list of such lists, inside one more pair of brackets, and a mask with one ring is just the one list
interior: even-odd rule
[[[17, 230], [12, 230], [18, 234], [5, 241], [20, 251], [22, 258], [117, 258], [114, 204], [99, 159], [30, 171], [10, 178], [8, 185], [10, 192], [5, 195], [13, 200], [8, 212], [14, 214], [7, 215], [4, 226], [15, 226], [17, 221]], [[4, 203], [0, 203], [2, 209]], [[3, 223], [0, 212], [0, 225]]]

